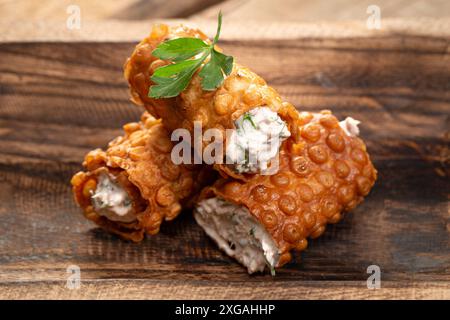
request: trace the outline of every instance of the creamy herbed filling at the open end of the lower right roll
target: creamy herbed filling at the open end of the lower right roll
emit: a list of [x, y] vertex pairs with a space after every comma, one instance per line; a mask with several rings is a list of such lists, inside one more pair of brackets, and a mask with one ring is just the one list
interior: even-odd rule
[[222, 250], [247, 267], [248, 273], [262, 272], [266, 266], [274, 270], [279, 260], [278, 247], [244, 206], [210, 198], [197, 205], [194, 217]]

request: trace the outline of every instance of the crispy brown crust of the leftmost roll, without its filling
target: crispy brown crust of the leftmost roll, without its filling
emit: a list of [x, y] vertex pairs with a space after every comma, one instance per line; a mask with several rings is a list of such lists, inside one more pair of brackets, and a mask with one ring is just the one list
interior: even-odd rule
[[[89, 152], [85, 172], [72, 178], [76, 202], [87, 219], [109, 232], [135, 242], [156, 234], [163, 220], [174, 219], [182, 206], [193, 201], [208, 181], [207, 168], [175, 165], [170, 159], [172, 142], [160, 120], [144, 113], [141, 122], [124, 126], [125, 135], [110, 142], [106, 151]], [[90, 196], [97, 176], [108, 173], [131, 197], [136, 220], [111, 221], [95, 212]]]

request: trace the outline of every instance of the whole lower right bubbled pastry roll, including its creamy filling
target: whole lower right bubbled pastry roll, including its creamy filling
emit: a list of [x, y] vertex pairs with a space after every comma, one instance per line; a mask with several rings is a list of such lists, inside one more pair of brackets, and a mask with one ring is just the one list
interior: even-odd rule
[[327, 223], [367, 196], [377, 177], [357, 121], [300, 113], [300, 131], [280, 150], [279, 171], [246, 182], [219, 179], [202, 191], [195, 218], [249, 273], [291, 260]]

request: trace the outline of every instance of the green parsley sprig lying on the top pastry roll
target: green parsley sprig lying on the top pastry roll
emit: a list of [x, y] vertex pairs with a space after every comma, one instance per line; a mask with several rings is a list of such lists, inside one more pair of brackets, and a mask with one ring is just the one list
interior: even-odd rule
[[189, 85], [194, 73], [210, 57], [199, 72], [203, 90], [212, 91], [222, 85], [233, 70], [233, 57], [214, 49], [219, 41], [222, 27], [222, 13], [219, 12], [217, 32], [211, 44], [198, 38], [177, 38], [162, 42], [153, 56], [172, 63], [157, 68], [150, 78], [155, 84], [150, 87], [151, 98], [172, 98], [178, 96]]

